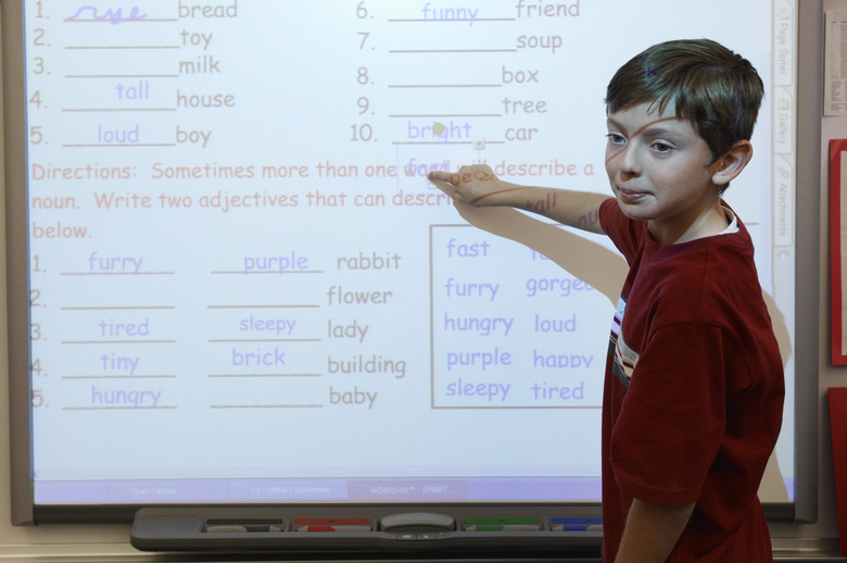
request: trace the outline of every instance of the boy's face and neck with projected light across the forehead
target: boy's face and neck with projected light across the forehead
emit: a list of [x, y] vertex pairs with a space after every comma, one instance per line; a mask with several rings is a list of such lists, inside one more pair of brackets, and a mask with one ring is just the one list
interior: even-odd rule
[[712, 182], [719, 164], [709, 164], [709, 146], [691, 122], [675, 116], [672, 104], [661, 113], [649, 103], [634, 105], [612, 113], [607, 123], [606, 173], [624, 214], [647, 221], [662, 243], [715, 235], [726, 226]]

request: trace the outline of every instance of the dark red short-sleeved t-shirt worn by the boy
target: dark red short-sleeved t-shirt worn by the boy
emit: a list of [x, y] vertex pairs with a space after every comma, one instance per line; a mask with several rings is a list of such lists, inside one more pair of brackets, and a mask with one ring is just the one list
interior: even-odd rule
[[757, 491], [784, 381], [746, 228], [660, 245], [614, 199], [601, 224], [630, 264], [606, 366], [604, 559], [639, 499], [696, 503], [669, 561], [772, 561]]

